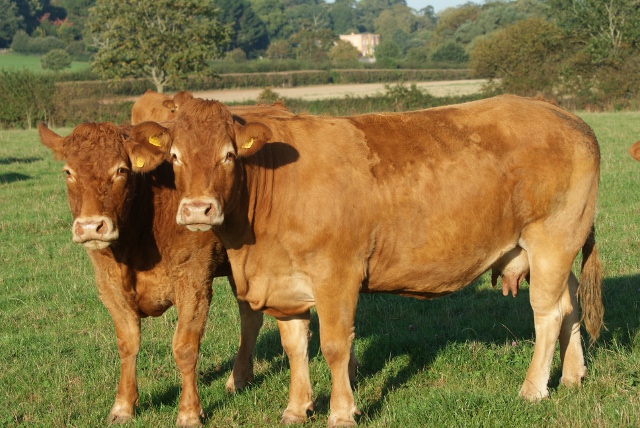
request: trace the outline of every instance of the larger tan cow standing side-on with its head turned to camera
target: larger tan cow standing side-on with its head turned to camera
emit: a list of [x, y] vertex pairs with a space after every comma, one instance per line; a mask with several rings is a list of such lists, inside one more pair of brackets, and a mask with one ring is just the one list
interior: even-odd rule
[[[536, 332], [520, 395], [548, 396], [558, 339], [562, 384], [581, 383], [578, 295], [592, 340], [603, 307], [594, 239], [600, 152], [578, 117], [501, 96], [408, 113], [238, 122], [218, 102], [193, 100], [164, 137], [182, 195], [177, 222], [213, 229], [238, 298], [298, 332], [283, 341], [292, 376], [316, 306], [332, 375], [330, 426], [353, 425], [358, 412], [348, 376], [358, 293], [443, 296], [509, 266], [518, 247]], [[579, 285], [571, 266], [580, 250]], [[283, 420], [304, 420], [311, 395], [292, 377]]]

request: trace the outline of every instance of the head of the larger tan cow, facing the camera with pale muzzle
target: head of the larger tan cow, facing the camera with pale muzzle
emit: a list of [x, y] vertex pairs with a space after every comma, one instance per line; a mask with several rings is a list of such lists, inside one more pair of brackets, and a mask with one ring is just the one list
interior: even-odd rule
[[217, 101], [194, 99], [171, 125], [170, 161], [182, 199], [176, 220], [192, 231], [222, 224], [237, 203], [242, 160], [255, 154], [271, 130], [259, 122], [240, 124]]

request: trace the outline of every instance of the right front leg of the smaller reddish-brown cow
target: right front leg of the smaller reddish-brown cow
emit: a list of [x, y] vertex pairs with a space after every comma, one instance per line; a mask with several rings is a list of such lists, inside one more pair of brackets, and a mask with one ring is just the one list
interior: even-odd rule
[[210, 302], [209, 283], [203, 283], [200, 287], [176, 289], [178, 325], [173, 335], [173, 357], [182, 376], [182, 393], [176, 421], [176, 425], [180, 427], [200, 426], [200, 418], [204, 417], [198, 395], [196, 365]]

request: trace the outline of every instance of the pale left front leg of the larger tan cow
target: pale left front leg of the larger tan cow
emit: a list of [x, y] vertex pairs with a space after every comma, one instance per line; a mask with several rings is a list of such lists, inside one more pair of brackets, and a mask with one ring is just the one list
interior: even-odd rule
[[300, 317], [278, 319], [280, 340], [291, 370], [289, 403], [282, 415], [284, 424], [304, 422], [307, 411], [313, 411], [313, 390], [309, 378], [309, 319], [309, 311]]

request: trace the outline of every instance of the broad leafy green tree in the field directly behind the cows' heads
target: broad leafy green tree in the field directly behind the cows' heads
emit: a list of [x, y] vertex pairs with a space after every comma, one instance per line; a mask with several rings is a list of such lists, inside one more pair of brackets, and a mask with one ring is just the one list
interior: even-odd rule
[[229, 42], [229, 28], [209, 0], [98, 0], [86, 26], [103, 78], [147, 77], [158, 92], [209, 69]]

